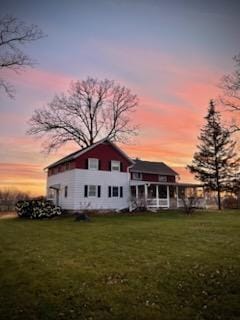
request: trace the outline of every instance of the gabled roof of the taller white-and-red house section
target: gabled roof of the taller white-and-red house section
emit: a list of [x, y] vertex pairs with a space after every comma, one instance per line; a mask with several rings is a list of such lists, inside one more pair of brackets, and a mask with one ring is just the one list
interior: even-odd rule
[[86, 153], [86, 152], [89, 151], [89, 150], [94, 149], [96, 146], [98, 146], [98, 145], [100, 145], [100, 144], [102, 144], [102, 143], [104, 143], [104, 142], [110, 143], [119, 153], [122, 154], [123, 157], [125, 157], [126, 159], [128, 159], [128, 161], [129, 161], [130, 163], [134, 163], [134, 161], [133, 161], [131, 158], [129, 158], [128, 155], [127, 155], [124, 151], [122, 151], [115, 143], [113, 143], [113, 142], [111, 142], [109, 139], [105, 138], [105, 139], [102, 139], [102, 140], [99, 140], [99, 141], [95, 142], [94, 144], [92, 144], [92, 145], [89, 146], [89, 147], [86, 147], [86, 148], [77, 150], [77, 151], [75, 151], [75, 152], [73, 152], [73, 153], [70, 153], [70, 154], [67, 155], [66, 157], [64, 157], [64, 158], [62, 158], [62, 159], [60, 159], [60, 160], [58, 160], [58, 161], [50, 164], [50, 165], [49, 165], [48, 167], [46, 167], [45, 169], [50, 169], [50, 168], [56, 167], [56, 166], [59, 165], [59, 164], [63, 164], [63, 163], [65, 163], [65, 162], [74, 160], [74, 159], [76, 159], [77, 157], [81, 156], [82, 154]]

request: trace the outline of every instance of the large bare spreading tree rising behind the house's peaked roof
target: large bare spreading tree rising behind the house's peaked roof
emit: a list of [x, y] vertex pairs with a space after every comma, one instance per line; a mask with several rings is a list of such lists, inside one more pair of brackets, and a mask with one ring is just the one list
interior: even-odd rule
[[69, 141], [82, 148], [102, 138], [126, 142], [137, 133], [130, 117], [137, 105], [137, 96], [128, 88], [87, 78], [72, 82], [68, 95], [56, 95], [47, 106], [36, 109], [28, 134], [46, 136], [43, 146], [48, 152]]

